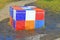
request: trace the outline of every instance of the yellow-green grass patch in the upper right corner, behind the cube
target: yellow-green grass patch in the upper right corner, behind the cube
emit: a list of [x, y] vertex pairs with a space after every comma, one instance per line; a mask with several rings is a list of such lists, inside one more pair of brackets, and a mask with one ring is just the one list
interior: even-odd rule
[[48, 11], [60, 13], [60, 0], [38, 0], [36, 4], [40, 8], [48, 9]]

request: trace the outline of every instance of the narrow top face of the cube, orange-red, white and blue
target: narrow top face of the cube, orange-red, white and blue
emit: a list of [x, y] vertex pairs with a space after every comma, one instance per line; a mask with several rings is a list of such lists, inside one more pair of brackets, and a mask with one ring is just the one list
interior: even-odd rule
[[40, 10], [40, 11], [44, 11], [43, 9], [37, 8], [36, 6], [13, 6], [10, 8], [13, 8], [13, 10]]

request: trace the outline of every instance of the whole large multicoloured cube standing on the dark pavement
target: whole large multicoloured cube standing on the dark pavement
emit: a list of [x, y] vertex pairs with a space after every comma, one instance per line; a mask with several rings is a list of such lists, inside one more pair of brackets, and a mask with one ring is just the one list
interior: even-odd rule
[[10, 25], [15, 30], [31, 30], [44, 26], [45, 11], [35, 6], [10, 7]]

